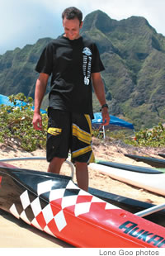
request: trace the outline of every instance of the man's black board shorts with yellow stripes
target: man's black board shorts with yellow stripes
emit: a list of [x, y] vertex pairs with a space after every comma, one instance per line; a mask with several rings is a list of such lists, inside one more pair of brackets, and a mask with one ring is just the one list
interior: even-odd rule
[[52, 108], [49, 109], [48, 116], [47, 161], [50, 162], [54, 157], [67, 159], [70, 151], [73, 163], [94, 162], [90, 116]]

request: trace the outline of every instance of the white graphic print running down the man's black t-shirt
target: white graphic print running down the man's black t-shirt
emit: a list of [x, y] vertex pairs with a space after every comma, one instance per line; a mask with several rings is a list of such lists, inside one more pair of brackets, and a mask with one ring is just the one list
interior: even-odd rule
[[83, 75], [84, 75], [84, 84], [89, 85], [91, 77], [91, 63], [92, 63], [92, 52], [89, 48], [85, 47], [82, 50], [83, 54]]

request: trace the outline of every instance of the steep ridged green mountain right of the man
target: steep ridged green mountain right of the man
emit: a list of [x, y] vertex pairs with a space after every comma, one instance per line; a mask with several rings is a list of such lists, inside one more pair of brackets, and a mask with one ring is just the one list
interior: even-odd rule
[[164, 121], [165, 38], [144, 17], [115, 21], [101, 11], [86, 17], [82, 35], [101, 52], [112, 115], [126, 116], [138, 128]]

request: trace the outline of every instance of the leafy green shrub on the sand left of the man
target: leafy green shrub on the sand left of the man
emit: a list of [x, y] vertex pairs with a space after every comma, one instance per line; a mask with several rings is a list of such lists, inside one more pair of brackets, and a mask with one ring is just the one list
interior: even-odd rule
[[[33, 99], [26, 98], [23, 93], [9, 97], [12, 106], [0, 106], [0, 141], [13, 143], [13, 141], [26, 151], [34, 151], [37, 148], [45, 149], [47, 115], [42, 115], [43, 129], [34, 130], [32, 126]], [[16, 107], [16, 101], [22, 102], [21, 107]], [[23, 102], [26, 102], [24, 104]]]

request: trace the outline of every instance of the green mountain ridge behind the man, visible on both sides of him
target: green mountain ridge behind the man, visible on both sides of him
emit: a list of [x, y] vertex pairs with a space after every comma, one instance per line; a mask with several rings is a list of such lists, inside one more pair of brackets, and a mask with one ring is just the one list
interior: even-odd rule
[[[100, 51], [111, 115], [134, 123], [136, 130], [165, 122], [165, 37], [144, 17], [115, 21], [99, 10], [85, 17], [81, 33], [94, 40]], [[24, 92], [34, 97], [35, 64], [50, 40], [43, 38], [0, 55], [1, 94]], [[93, 107], [100, 109], [95, 96]]]

